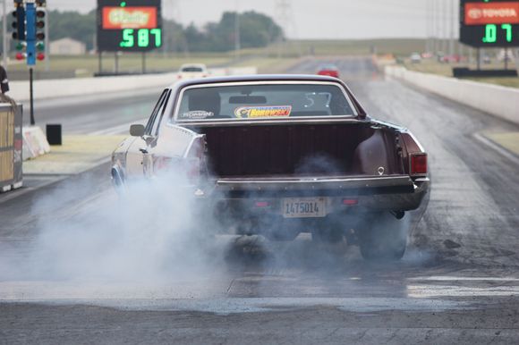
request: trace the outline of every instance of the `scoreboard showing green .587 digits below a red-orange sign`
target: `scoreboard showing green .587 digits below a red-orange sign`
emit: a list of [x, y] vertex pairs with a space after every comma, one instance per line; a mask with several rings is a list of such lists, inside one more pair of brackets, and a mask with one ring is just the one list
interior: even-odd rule
[[147, 52], [162, 46], [161, 0], [98, 0], [98, 50]]

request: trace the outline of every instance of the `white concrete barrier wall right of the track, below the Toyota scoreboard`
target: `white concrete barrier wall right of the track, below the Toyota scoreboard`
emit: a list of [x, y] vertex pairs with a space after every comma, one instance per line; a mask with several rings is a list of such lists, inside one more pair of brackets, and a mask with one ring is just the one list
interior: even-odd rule
[[385, 72], [390, 78], [404, 80], [439, 96], [519, 124], [519, 89], [517, 88], [412, 72], [400, 66], [386, 66]]

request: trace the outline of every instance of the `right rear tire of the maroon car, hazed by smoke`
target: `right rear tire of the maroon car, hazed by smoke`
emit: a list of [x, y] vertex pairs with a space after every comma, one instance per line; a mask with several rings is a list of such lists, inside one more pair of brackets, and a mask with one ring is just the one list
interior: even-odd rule
[[408, 225], [390, 213], [371, 215], [360, 230], [359, 247], [362, 257], [370, 261], [397, 261], [404, 257]]

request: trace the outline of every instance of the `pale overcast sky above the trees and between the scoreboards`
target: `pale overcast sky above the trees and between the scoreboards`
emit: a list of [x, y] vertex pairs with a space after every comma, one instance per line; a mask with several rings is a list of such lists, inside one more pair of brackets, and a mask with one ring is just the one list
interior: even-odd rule
[[[423, 38], [433, 0], [292, 0], [283, 26], [290, 38]], [[278, 18], [277, 0], [162, 0], [166, 18], [201, 26], [224, 11], [254, 10]], [[435, 0], [442, 12], [458, 0]], [[97, 0], [47, 0], [52, 9], [88, 12]], [[457, 15], [457, 13], [456, 13]]]

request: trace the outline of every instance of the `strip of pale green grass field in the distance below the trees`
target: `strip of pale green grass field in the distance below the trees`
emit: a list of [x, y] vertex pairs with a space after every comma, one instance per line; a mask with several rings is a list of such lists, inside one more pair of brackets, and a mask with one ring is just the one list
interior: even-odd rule
[[[206, 63], [209, 66], [218, 65], [258, 65], [260, 72], [282, 72], [285, 66], [294, 63], [294, 59], [303, 55], [370, 55], [393, 53], [409, 55], [421, 51], [424, 46], [422, 39], [370, 39], [370, 40], [294, 40], [273, 44], [265, 48], [249, 48], [240, 51], [241, 60], [236, 61], [234, 52], [227, 53], [191, 53], [167, 54], [150, 53], [146, 56], [148, 71], [176, 71], [183, 63]], [[280, 63], [281, 62], [281, 63]], [[103, 71], [115, 71], [115, 55], [103, 54]], [[140, 72], [140, 54], [124, 54], [119, 56], [120, 72]], [[38, 62], [36, 72], [44, 72], [45, 62]], [[50, 58], [50, 72], [67, 72], [68, 75], [89, 77], [98, 72], [98, 55], [59, 56]], [[24, 62], [12, 60], [8, 72], [26, 71]]]

